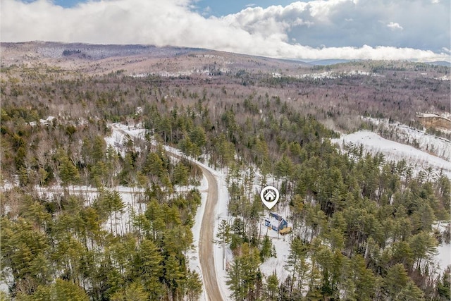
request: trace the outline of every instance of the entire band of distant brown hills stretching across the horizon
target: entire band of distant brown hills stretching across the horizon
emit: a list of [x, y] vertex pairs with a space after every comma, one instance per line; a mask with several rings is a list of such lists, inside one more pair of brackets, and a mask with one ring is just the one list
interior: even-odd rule
[[[197, 76], [208, 80], [212, 76], [237, 75], [249, 81], [249, 74], [265, 74], [272, 78], [330, 78], [337, 74], [384, 74], [388, 70], [412, 73], [417, 63], [408, 61], [367, 61], [326, 59], [300, 61], [250, 56], [226, 51], [187, 47], [156, 47], [152, 45], [83, 44], [60, 42], [0, 43], [1, 68], [44, 64], [61, 70], [78, 70], [85, 74], [124, 73], [133, 76], [161, 75], [168, 77]], [[423, 68], [421, 78], [443, 78], [450, 62], [436, 61]], [[316, 73], [319, 70], [335, 75]], [[309, 75], [312, 73], [312, 75]], [[393, 72], [390, 73], [390, 76]], [[406, 74], [409, 78], [413, 74]], [[243, 78], [247, 78], [244, 80]], [[445, 78], [446, 79], [446, 78]]]

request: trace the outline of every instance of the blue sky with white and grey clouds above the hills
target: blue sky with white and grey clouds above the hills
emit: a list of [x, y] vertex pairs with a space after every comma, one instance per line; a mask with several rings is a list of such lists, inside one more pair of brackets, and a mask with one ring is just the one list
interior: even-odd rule
[[202, 47], [285, 59], [450, 61], [450, 2], [0, 0], [0, 40]]

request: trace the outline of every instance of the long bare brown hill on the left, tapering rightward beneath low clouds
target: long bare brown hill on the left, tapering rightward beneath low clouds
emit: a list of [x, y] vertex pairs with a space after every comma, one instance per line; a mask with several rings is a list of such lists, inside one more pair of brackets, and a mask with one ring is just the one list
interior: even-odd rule
[[[152, 45], [101, 45], [59, 42], [0, 43], [1, 66], [44, 63], [63, 70], [83, 70], [99, 74], [123, 71], [166, 76], [221, 75], [240, 70], [295, 75], [299, 68], [311, 67], [302, 61], [233, 54], [225, 51]], [[167, 59], [171, 59], [166, 61]]]

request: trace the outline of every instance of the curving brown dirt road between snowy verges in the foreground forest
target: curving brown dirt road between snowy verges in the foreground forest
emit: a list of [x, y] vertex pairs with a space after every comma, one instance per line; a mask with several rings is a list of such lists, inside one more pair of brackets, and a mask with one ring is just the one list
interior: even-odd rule
[[204, 217], [200, 227], [199, 237], [199, 261], [204, 278], [206, 299], [211, 301], [223, 300], [216, 281], [214, 266], [213, 233], [214, 233], [214, 207], [218, 202], [218, 183], [211, 172], [202, 167], [206, 180], [209, 181], [209, 192], [206, 197]]

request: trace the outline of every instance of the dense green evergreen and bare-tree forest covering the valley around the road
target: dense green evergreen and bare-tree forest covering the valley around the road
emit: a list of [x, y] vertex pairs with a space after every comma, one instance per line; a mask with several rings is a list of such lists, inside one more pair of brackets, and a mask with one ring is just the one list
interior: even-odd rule
[[[186, 252], [201, 198], [176, 189], [199, 183], [190, 157], [227, 168], [230, 219], [217, 240], [235, 257], [231, 299], [450, 300], [450, 269], [437, 274], [431, 262], [438, 241], [449, 241], [449, 228], [432, 226], [450, 220], [450, 179], [353, 145], [340, 152], [330, 143], [338, 133], [324, 125], [352, 130], [364, 126], [364, 114], [405, 121], [429, 106], [449, 111], [449, 81], [409, 79], [418, 72], [409, 64], [381, 68], [373, 71], [384, 77], [335, 80], [3, 68], [1, 272], [9, 292], [2, 297], [197, 300], [202, 281], [187, 268]], [[112, 122], [142, 123], [147, 139], [129, 137], [116, 152], [104, 140]], [[163, 144], [187, 158], [172, 159]], [[280, 205], [291, 209], [286, 279], [259, 271], [277, 254], [258, 233], [257, 172], [262, 182], [278, 180]], [[125, 207], [119, 185], [136, 188], [143, 205], [125, 234], [113, 223]]]

